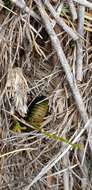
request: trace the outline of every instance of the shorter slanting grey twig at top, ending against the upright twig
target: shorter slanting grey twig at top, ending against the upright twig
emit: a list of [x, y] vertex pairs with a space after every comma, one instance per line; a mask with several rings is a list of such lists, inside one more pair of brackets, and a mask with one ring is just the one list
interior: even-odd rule
[[71, 29], [65, 22], [64, 20], [59, 17], [58, 13], [55, 11], [55, 9], [53, 8], [53, 6], [50, 4], [49, 0], [45, 1], [45, 5], [48, 8], [48, 10], [51, 12], [51, 14], [53, 15], [53, 17], [55, 18], [56, 22], [71, 36], [71, 38], [73, 40], [78, 40], [78, 35], [76, 33], [76, 31], [73, 31], [73, 29]]

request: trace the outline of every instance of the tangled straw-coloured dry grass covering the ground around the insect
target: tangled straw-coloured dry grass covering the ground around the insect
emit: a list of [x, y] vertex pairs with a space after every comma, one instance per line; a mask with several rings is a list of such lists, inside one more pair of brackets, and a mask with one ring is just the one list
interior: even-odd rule
[[[34, 3], [32, 7], [35, 9]], [[50, 114], [44, 123], [45, 130], [73, 141], [84, 127], [44, 26], [21, 14], [16, 7], [12, 10], [16, 14], [3, 9], [0, 12], [0, 190], [91, 190], [92, 153], [88, 145], [91, 137], [85, 132], [77, 141], [80, 148], [71, 150], [70, 145], [46, 138], [36, 130], [21, 134], [10, 131], [11, 101], [6, 84], [13, 67], [22, 69], [32, 98], [43, 94], [49, 99]], [[67, 17], [63, 17], [71, 26], [69, 12], [65, 14]], [[92, 115], [91, 15], [86, 10], [83, 79], [77, 81], [89, 118]], [[76, 23], [72, 22], [75, 29]], [[55, 32], [76, 80], [76, 42], [57, 25]]]

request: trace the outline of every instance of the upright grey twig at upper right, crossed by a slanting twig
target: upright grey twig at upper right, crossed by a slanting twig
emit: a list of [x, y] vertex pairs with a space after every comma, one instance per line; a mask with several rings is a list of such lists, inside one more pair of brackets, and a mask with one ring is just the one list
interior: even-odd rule
[[[79, 14], [78, 14], [78, 29], [80, 36], [84, 37], [84, 16], [85, 16], [85, 7], [79, 6]], [[77, 41], [77, 49], [76, 49], [76, 77], [77, 80], [82, 81], [83, 78], [83, 40], [80, 39]]]

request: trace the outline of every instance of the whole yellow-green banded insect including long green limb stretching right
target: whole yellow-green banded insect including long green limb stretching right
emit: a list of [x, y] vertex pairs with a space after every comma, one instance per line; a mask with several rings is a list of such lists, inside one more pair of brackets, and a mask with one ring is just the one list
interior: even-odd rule
[[16, 121], [13, 131], [14, 132], [28, 132], [28, 130], [37, 130], [37, 132], [41, 132], [42, 135], [44, 135], [46, 138], [53, 139], [58, 142], [64, 142], [66, 144], [69, 144], [73, 146], [74, 148], [80, 148], [79, 144], [72, 144], [69, 140], [58, 136], [57, 134], [50, 133], [48, 131], [45, 131], [42, 128], [42, 123], [44, 121], [44, 117], [48, 113], [48, 100], [44, 99], [44, 96], [37, 97], [28, 107], [27, 117], [25, 118], [25, 121], [28, 122], [30, 125], [32, 125], [32, 129], [28, 126], [21, 124], [21, 122]]

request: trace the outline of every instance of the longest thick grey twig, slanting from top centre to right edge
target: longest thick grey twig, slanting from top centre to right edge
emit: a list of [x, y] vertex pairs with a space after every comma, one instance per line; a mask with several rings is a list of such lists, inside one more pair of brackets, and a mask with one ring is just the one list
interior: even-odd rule
[[71, 72], [71, 68], [67, 62], [67, 59], [65, 57], [65, 54], [62, 50], [62, 47], [61, 47], [61, 44], [60, 44], [60, 41], [59, 39], [57, 38], [56, 36], [56, 33], [54, 32], [53, 30], [53, 27], [49, 21], [49, 17], [46, 13], [46, 11], [44, 10], [44, 7], [42, 6], [42, 3], [41, 1], [37, 1], [35, 0], [37, 6], [38, 6], [38, 9], [40, 11], [40, 14], [41, 14], [41, 17], [45, 23], [45, 26], [46, 26], [46, 29], [47, 29], [47, 32], [50, 36], [50, 39], [51, 39], [51, 42], [54, 46], [54, 49], [56, 50], [57, 52], [57, 55], [58, 55], [58, 58], [60, 60], [60, 63], [66, 73], [66, 77], [67, 77], [67, 80], [68, 80], [68, 83], [70, 85], [70, 88], [71, 88], [71, 91], [73, 93], [73, 96], [74, 96], [74, 99], [75, 99], [75, 102], [76, 102], [76, 105], [78, 107], [78, 110], [79, 110], [79, 113], [81, 115], [81, 119], [83, 119], [83, 122], [86, 123], [87, 120], [88, 120], [88, 115], [87, 115], [87, 112], [86, 112], [86, 109], [84, 107], [84, 103], [83, 103], [83, 100], [81, 98], [81, 95], [79, 93], [79, 90], [78, 90], [78, 87], [77, 87], [77, 84], [76, 82], [73, 80], [73, 75], [72, 75], [72, 72]]

